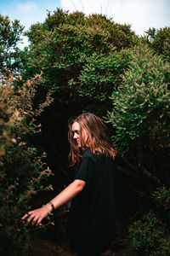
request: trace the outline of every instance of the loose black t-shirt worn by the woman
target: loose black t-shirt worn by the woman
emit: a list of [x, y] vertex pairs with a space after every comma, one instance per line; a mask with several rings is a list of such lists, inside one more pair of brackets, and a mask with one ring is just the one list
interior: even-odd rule
[[101, 247], [116, 236], [116, 164], [90, 149], [82, 156], [75, 179], [86, 185], [71, 203], [68, 230], [71, 247]]

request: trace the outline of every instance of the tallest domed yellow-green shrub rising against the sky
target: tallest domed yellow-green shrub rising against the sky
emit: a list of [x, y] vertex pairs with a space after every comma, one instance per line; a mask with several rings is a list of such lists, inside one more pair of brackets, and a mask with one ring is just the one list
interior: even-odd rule
[[48, 14], [42, 24], [32, 25], [26, 35], [31, 41], [27, 72], [42, 71], [46, 79], [42, 85], [54, 90], [68, 86], [70, 79], [77, 79], [94, 53], [106, 56], [111, 51], [128, 49], [138, 39], [130, 26], [117, 24], [103, 15], [69, 15], [60, 9]]

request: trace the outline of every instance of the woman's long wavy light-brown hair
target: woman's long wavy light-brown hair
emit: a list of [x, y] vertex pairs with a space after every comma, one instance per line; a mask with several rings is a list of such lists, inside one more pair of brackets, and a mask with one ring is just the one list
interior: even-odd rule
[[[72, 124], [75, 122], [80, 125], [81, 148], [78, 147], [76, 141], [73, 139]], [[86, 143], [83, 143], [82, 140], [82, 129], [88, 133]], [[105, 124], [105, 121], [97, 117], [94, 113], [82, 113], [76, 118], [69, 119], [68, 139], [71, 144], [69, 154], [71, 166], [80, 162], [82, 154], [87, 149], [91, 149], [96, 156], [102, 157], [105, 155], [112, 160], [115, 159], [116, 150], [111, 146], [108, 127]]]

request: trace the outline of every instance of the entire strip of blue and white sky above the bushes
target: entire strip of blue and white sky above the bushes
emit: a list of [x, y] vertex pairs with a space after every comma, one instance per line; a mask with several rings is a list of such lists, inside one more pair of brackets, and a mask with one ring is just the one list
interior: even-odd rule
[[[170, 26], [170, 0], [0, 0], [0, 14], [20, 20], [25, 30], [43, 22], [47, 10], [53, 13], [57, 8], [107, 15], [115, 22], [130, 24], [138, 35], [150, 27]], [[23, 46], [26, 44], [25, 38]]]

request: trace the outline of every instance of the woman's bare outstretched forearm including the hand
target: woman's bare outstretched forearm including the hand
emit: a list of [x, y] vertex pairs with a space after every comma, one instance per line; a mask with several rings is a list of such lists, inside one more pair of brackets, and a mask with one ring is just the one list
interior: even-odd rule
[[[82, 189], [84, 189], [86, 183], [83, 180], [76, 179], [73, 183], [68, 185], [59, 195], [55, 196], [51, 200], [54, 208], [59, 208], [63, 206], [68, 201], [71, 201], [75, 196], [77, 196]], [[36, 210], [26, 213], [22, 219], [26, 219], [26, 223], [31, 225], [39, 225], [43, 218], [48, 216], [48, 213], [52, 211], [52, 206], [47, 203], [45, 206], [38, 208]]]

